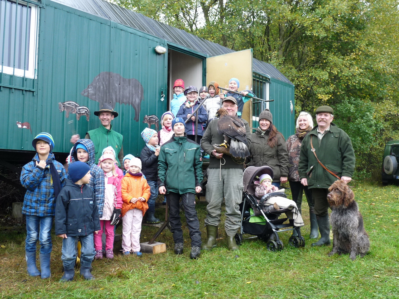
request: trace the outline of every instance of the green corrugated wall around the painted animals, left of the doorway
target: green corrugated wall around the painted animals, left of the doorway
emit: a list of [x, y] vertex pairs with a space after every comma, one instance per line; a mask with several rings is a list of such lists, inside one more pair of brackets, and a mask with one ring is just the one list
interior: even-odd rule
[[[139, 121], [134, 118], [130, 105], [116, 103], [119, 117], [113, 120], [113, 129], [124, 136], [124, 153], [138, 155], [144, 142], [140, 132], [147, 127], [144, 116], [166, 111], [167, 56], [158, 55], [156, 45], [167, 47], [165, 40], [141, 33], [132, 28], [107, 21], [85, 12], [79, 12], [54, 2], [47, 2], [40, 14], [38, 60], [38, 92], [3, 88], [0, 109], [5, 117], [0, 120], [3, 138], [0, 148], [33, 150], [35, 134], [49, 132], [55, 140], [54, 151], [67, 152], [72, 134], [84, 137], [88, 130], [98, 128], [99, 119], [93, 112], [99, 103], [81, 92], [101, 72], [135, 78], [144, 88]], [[82, 116], [59, 110], [59, 102], [74, 101], [90, 110], [90, 121]], [[29, 122], [30, 130], [20, 129], [16, 122]], [[154, 126], [152, 126], [154, 128]]]

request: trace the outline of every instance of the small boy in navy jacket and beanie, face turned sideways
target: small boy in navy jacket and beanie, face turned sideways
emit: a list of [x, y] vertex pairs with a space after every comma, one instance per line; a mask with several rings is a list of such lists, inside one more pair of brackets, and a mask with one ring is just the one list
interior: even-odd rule
[[93, 279], [90, 273], [95, 250], [93, 232], [100, 230], [100, 217], [90, 182], [90, 166], [77, 161], [68, 167], [65, 187], [61, 189], [55, 204], [55, 234], [62, 238], [62, 262], [64, 275], [61, 281], [72, 281], [75, 275], [76, 245], [79, 237], [82, 244], [80, 274], [84, 279]]

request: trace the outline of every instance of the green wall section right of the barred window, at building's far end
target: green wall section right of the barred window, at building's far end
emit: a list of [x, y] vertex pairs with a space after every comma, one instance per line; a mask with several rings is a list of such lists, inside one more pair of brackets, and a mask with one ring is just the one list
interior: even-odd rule
[[273, 114], [273, 124], [287, 140], [295, 132], [295, 111], [292, 110], [291, 114], [290, 110], [290, 101], [292, 101], [293, 107], [295, 106], [294, 86], [274, 78], [271, 78], [270, 82], [270, 99], [274, 99], [274, 102], [269, 104]]

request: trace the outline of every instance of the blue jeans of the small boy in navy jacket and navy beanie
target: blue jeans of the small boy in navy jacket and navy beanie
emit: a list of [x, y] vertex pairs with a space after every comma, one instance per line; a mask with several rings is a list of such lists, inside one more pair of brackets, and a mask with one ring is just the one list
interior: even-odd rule
[[80, 264], [83, 267], [89, 268], [95, 256], [93, 234], [87, 236], [68, 236], [62, 239], [62, 255], [61, 260], [65, 269], [73, 269], [76, 261], [76, 245], [75, 240], [80, 239], [82, 245], [80, 251]]

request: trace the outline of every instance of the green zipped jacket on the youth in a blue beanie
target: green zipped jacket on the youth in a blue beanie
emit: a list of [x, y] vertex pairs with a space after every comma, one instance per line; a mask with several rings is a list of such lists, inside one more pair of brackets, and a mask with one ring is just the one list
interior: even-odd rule
[[162, 144], [158, 156], [159, 187], [166, 193], [196, 193], [202, 187], [202, 160], [199, 145], [184, 136], [172, 138]]

